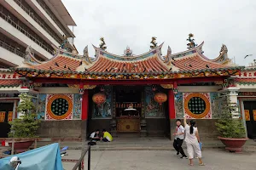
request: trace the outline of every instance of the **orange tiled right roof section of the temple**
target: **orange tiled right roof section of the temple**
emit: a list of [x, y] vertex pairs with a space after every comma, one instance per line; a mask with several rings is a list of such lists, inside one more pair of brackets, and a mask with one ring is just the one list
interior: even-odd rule
[[195, 55], [193, 57], [184, 57], [181, 59], [176, 59], [173, 61], [173, 64], [177, 66], [179, 71], [195, 71], [203, 69], [218, 69], [218, 68], [227, 68], [230, 65], [221, 65], [207, 59], [202, 59], [201, 56]]

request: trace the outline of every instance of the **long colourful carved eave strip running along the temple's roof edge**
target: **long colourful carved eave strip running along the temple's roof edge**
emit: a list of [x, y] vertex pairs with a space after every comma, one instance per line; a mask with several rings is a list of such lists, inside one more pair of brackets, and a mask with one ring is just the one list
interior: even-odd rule
[[77, 71], [43, 71], [16, 68], [20, 77], [70, 78], [85, 80], [157, 80], [189, 77], [223, 77], [239, 75], [244, 67], [236, 66], [222, 69], [205, 69], [197, 71], [162, 71], [138, 73], [77, 72]]

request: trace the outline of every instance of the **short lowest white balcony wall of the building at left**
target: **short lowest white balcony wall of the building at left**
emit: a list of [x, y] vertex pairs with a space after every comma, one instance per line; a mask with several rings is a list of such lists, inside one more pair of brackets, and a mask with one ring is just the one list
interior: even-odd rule
[[20, 55], [14, 54], [5, 48], [0, 47], [0, 58], [9, 61], [15, 65], [21, 65], [24, 59]]

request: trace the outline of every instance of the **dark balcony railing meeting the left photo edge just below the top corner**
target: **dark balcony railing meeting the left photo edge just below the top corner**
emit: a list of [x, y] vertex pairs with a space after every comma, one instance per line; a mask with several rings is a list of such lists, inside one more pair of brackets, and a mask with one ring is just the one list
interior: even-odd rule
[[47, 52], [49, 52], [49, 54], [53, 54], [53, 50], [50, 50], [42, 42], [39, 42], [37, 38], [33, 37], [30, 33], [24, 30], [14, 20], [11, 20], [6, 14], [3, 14], [2, 11], [0, 11], [0, 17], [3, 18], [3, 20], [6, 20], [10, 25], [14, 26], [17, 30], [25, 34], [26, 37], [29, 37], [33, 42], [36, 42], [40, 47], [44, 48]]

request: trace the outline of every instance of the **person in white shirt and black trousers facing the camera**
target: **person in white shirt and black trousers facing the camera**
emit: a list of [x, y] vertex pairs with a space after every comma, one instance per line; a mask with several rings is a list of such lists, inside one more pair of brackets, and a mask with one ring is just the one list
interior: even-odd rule
[[180, 119], [177, 119], [176, 125], [177, 125], [176, 131], [175, 131], [175, 133], [173, 133], [173, 136], [175, 136], [175, 139], [173, 142], [173, 147], [177, 151], [177, 155], [179, 155], [179, 153], [181, 153], [181, 155], [182, 155], [181, 158], [188, 159], [188, 156], [186, 156], [186, 154], [184, 153], [183, 148], [182, 148], [185, 129], [181, 125]]

